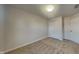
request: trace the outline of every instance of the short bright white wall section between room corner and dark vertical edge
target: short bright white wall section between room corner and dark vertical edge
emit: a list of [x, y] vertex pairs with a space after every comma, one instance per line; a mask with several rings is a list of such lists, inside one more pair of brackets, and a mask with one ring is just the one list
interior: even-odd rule
[[56, 17], [49, 20], [49, 37], [57, 38], [62, 40], [63, 33], [62, 33], [62, 17]]

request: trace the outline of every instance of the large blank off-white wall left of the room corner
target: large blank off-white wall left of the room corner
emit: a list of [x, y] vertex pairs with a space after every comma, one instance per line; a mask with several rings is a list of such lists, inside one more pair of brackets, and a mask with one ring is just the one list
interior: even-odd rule
[[10, 7], [5, 50], [14, 49], [46, 38], [48, 35], [47, 31], [48, 20]]

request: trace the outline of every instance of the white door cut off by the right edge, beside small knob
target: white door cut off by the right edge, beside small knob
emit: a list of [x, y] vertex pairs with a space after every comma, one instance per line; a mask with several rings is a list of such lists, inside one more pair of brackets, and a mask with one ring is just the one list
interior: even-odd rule
[[71, 40], [79, 43], [79, 14], [71, 17]]

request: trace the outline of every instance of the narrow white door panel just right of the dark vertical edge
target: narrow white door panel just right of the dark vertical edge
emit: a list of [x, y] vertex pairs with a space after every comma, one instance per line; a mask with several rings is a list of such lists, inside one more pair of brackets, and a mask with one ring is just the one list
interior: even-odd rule
[[71, 19], [64, 17], [64, 39], [71, 39]]

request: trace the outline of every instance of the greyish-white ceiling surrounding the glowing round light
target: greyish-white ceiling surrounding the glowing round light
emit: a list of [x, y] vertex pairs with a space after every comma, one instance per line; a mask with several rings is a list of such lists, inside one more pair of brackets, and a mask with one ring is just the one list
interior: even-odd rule
[[69, 16], [75, 13], [79, 13], [79, 8], [74, 8], [75, 4], [55, 4], [55, 10], [51, 13], [48, 13], [44, 10], [47, 4], [14, 4], [10, 6], [23, 9], [27, 12], [40, 15], [45, 18], [53, 18], [56, 16]]

